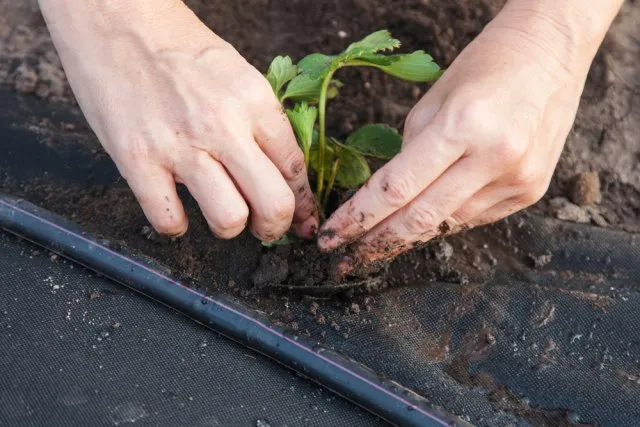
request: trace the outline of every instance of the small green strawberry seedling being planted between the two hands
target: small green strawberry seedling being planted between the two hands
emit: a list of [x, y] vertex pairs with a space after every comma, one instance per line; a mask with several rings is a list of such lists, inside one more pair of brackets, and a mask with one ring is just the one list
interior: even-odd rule
[[402, 145], [398, 131], [385, 124], [368, 124], [345, 141], [327, 136], [327, 101], [342, 87], [334, 79], [336, 71], [343, 67], [374, 67], [413, 82], [433, 82], [442, 73], [424, 51], [388, 53], [399, 46], [400, 41], [389, 31], [380, 30], [337, 55], [312, 53], [297, 64], [288, 56], [278, 56], [269, 66], [267, 80], [285, 107], [307, 169], [316, 173], [316, 198], [322, 207], [326, 207], [334, 186], [355, 189], [369, 178], [367, 157], [388, 160]]

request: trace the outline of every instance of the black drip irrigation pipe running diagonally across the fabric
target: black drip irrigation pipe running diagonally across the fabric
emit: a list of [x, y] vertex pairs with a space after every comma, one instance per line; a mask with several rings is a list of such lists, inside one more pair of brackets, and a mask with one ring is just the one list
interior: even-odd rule
[[152, 298], [315, 381], [392, 424], [469, 426], [358, 362], [315, 345], [220, 295], [207, 295], [44, 209], [0, 194], [0, 227]]

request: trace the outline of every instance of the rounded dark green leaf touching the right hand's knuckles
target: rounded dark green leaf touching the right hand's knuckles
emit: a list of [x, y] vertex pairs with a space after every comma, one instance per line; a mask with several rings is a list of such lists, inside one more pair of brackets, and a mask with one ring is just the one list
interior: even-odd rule
[[347, 138], [347, 146], [364, 156], [388, 160], [400, 152], [402, 136], [384, 124], [365, 125]]

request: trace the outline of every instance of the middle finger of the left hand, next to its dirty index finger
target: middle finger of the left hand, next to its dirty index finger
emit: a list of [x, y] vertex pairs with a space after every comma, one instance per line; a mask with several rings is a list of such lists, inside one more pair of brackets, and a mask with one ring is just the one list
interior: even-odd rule
[[229, 141], [214, 153], [251, 209], [251, 231], [262, 241], [277, 240], [291, 227], [295, 197], [282, 174], [252, 137]]

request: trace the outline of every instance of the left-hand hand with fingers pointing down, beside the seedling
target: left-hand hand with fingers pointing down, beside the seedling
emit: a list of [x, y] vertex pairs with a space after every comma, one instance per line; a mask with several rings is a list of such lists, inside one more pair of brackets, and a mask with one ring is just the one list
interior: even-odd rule
[[249, 218], [263, 241], [292, 222], [314, 234], [302, 152], [269, 83], [235, 49], [181, 2], [83, 11], [67, 0], [66, 14], [55, 3], [43, 10], [76, 98], [157, 231], [187, 230], [178, 182], [220, 238]]

